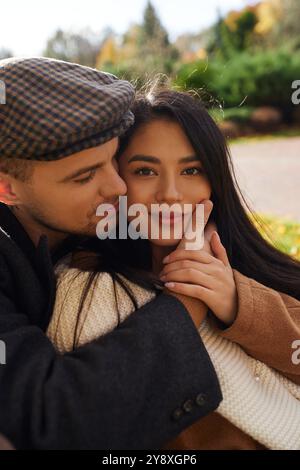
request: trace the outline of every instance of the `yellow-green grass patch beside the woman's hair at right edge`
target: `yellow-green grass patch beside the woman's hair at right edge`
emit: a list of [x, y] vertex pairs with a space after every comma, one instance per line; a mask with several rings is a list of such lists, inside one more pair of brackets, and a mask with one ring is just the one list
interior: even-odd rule
[[[300, 261], [300, 223], [258, 214], [266, 231], [253, 220], [255, 226], [269, 242], [284, 253]], [[270, 234], [270, 236], [268, 236]]]

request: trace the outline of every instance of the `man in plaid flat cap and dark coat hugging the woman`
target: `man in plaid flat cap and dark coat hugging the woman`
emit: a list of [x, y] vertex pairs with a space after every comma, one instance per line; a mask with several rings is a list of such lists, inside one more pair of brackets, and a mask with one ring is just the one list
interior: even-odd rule
[[4, 60], [0, 80], [0, 432], [16, 448], [157, 448], [221, 400], [199, 304], [163, 294], [64, 356], [45, 335], [53, 264], [126, 193], [114, 157], [134, 90], [46, 58]]

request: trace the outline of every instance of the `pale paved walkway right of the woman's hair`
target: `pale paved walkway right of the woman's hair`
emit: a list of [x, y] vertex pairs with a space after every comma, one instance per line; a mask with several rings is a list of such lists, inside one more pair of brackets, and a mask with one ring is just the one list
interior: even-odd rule
[[250, 206], [300, 222], [300, 137], [232, 144], [231, 153]]

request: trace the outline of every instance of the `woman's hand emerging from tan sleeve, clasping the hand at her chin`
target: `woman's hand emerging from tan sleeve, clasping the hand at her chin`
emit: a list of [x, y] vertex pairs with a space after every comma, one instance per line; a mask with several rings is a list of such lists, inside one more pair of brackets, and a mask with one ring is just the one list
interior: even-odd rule
[[213, 255], [203, 250], [173, 251], [164, 260], [160, 279], [171, 292], [205, 302], [229, 326], [238, 308], [233, 271], [217, 232], [213, 232], [210, 246]]

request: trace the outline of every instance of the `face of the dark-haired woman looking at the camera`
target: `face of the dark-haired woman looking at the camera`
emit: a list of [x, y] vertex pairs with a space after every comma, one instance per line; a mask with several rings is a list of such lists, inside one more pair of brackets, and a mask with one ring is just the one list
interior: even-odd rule
[[[171, 120], [157, 119], [138, 128], [120, 156], [119, 171], [127, 185], [128, 207], [136, 203], [147, 207], [145, 235], [155, 245], [177, 245], [182, 233], [180, 236], [174, 233], [176, 216], [160, 216], [159, 237], [151, 237], [152, 204], [179, 204], [183, 213], [184, 204], [192, 204], [194, 209], [197, 203], [211, 196], [198, 156], [180, 125]], [[179, 217], [183, 226], [182, 216]], [[167, 239], [162, 233], [165, 224], [170, 226]]]

